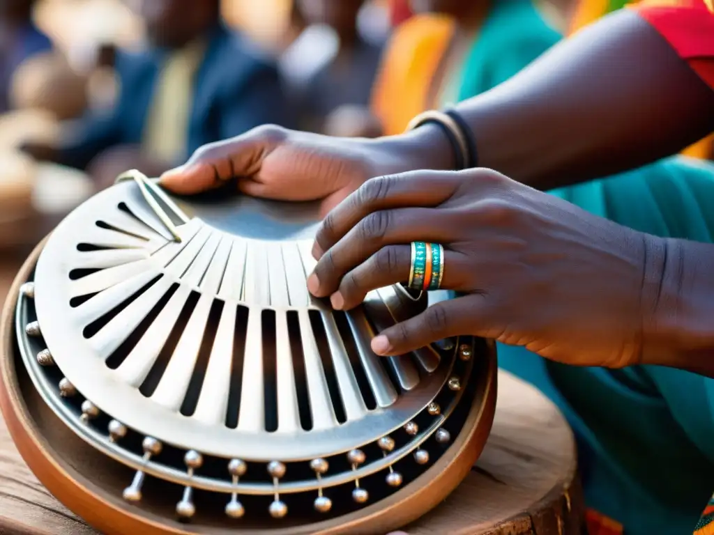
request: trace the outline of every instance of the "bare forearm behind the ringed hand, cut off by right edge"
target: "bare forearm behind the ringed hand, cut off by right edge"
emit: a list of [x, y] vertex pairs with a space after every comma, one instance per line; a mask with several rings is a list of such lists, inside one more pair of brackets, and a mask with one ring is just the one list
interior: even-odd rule
[[646, 239], [643, 364], [714, 377], [714, 245]]

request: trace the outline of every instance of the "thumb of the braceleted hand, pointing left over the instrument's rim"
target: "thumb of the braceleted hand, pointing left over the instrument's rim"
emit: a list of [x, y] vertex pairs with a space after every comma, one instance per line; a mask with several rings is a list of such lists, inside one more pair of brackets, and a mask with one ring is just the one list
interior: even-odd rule
[[199, 148], [180, 167], [166, 171], [159, 183], [179, 195], [192, 195], [218, 188], [231, 178], [254, 175], [266, 154], [285, 136], [282, 128], [267, 125], [226, 141], [210, 143]]

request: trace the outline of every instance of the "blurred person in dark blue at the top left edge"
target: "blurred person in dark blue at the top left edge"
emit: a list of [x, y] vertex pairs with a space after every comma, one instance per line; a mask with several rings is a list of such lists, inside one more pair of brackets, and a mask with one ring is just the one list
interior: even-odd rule
[[10, 108], [9, 88], [27, 58], [52, 49], [49, 37], [34, 24], [35, 0], [0, 0], [0, 113]]

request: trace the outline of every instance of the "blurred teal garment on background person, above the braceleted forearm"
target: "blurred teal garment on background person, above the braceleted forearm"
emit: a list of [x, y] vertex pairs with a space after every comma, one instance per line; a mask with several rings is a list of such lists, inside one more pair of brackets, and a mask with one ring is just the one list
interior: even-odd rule
[[494, 0], [461, 68], [458, 101], [508, 80], [561, 38], [533, 1]]

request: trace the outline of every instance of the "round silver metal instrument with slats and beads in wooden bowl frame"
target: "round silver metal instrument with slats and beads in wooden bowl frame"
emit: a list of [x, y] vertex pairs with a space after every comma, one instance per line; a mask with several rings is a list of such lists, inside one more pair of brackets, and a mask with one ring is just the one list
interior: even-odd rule
[[493, 343], [377, 357], [426, 295], [313, 299], [316, 205], [124, 178], [36, 248], [4, 310], [4, 417], [69, 509], [110, 535], [386, 533], [466, 477]]

